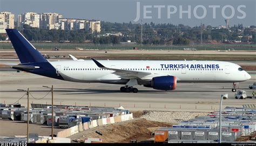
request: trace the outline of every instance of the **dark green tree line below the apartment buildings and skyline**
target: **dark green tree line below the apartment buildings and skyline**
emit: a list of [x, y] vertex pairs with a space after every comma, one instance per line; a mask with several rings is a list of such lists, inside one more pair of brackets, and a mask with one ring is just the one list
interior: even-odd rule
[[[244, 42], [254, 42], [256, 26], [243, 27], [242, 24], [234, 25], [229, 30], [225, 28], [213, 28], [202, 25], [190, 27], [179, 24], [143, 24], [143, 36], [141, 24], [130, 23], [110, 23], [101, 22], [101, 32], [91, 33], [89, 30], [43, 30], [24, 25], [21, 33], [28, 40], [32, 41], [52, 41], [72, 43], [91, 42], [95, 44], [118, 44], [130, 40], [132, 42], [143, 43], [145, 45], [188, 45], [189, 43], [211, 43], [224, 42], [224, 40], [241, 40]], [[109, 35], [106, 35], [106, 34]], [[121, 33], [122, 35], [118, 35]], [[244, 36], [244, 37], [240, 37]], [[248, 39], [248, 36], [252, 38]], [[143, 38], [143, 40], [141, 39]], [[4, 39], [4, 38], [0, 38]]]

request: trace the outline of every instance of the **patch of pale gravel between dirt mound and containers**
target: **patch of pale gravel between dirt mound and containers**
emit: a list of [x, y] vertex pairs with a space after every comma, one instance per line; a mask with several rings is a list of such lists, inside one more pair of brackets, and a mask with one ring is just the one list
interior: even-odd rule
[[159, 112], [150, 111], [140, 118], [144, 118], [150, 121], [167, 122], [167, 123], [178, 123], [184, 120], [190, 120], [200, 115], [207, 115], [207, 112]]

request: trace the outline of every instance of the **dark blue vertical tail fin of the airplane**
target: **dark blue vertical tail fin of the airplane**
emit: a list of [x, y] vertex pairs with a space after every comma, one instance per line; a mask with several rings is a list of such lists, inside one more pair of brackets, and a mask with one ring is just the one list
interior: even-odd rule
[[38, 50], [16, 29], [6, 29], [21, 63], [47, 62]]

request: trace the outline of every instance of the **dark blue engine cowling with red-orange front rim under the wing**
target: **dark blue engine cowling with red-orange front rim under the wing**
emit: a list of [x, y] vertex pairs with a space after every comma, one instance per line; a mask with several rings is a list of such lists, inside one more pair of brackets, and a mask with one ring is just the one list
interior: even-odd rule
[[176, 88], [177, 80], [174, 76], [160, 76], [153, 77], [151, 86], [157, 90], [174, 90]]

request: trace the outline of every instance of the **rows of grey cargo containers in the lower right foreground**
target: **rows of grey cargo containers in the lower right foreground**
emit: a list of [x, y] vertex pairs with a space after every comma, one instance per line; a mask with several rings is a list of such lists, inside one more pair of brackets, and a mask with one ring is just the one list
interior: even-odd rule
[[[250, 135], [256, 129], [256, 108], [225, 107], [222, 113], [221, 136], [223, 142], [234, 142], [239, 136]], [[172, 127], [166, 127], [167, 140], [159, 138], [161, 130], [155, 133], [156, 142], [196, 143], [219, 141], [219, 112], [206, 116], [197, 116], [188, 121], [181, 121]], [[162, 134], [164, 135], [164, 134]]]

